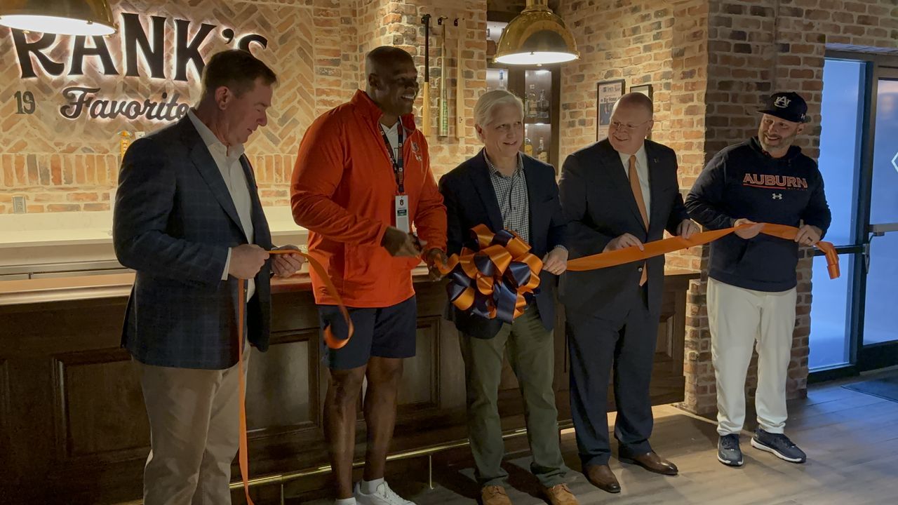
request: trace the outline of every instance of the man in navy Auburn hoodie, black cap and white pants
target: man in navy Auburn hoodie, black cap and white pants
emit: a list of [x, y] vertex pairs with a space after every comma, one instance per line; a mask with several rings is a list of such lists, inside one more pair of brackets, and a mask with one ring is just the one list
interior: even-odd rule
[[[749, 224], [711, 244], [708, 320], [718, 389], [718, 460], [741, 466], [745, 375], [757, 340], [759, 427], [752, 447], [792, 463], [805, 453], [783, 434], [786, 379], [796, 316], [799, 245], [816, 244], [830, 226], [823, 177], [793, 146], [807, 105], [797, 93], [774, 93], [758, 136], [711, 159], [686, 199], [692, 219], [709, 229]], [[797, 226], [795, 241], [760, 234], [762, 223]], [[760, 235], [759, 235], [760, 234]]]

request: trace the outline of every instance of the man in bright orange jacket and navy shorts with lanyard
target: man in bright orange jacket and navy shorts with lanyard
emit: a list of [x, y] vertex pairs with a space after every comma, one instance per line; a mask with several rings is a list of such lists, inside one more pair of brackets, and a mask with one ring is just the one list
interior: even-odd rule
[[[423, 256], [445, 261], [446, 215], [427, 141], [411, 114], [418, 71], [409, 53], [380, 47], [365, 58], [366, 91], [325, 112], [299, 146], [290, 200], [321, 261], [350, 307], [352, 339], [325, 349], [330, 383], [324, 430], [337, 505], [404, 505], [383, 480], [396, 421], [402, 359], [415, 355], [417, 305], [411, 270]], [[411, 233], [414, 225], [417, 235]], [[438, 275], [431, 268], [432, 275]], [[313, 271], [321, 327], [345, 335], [339, 309]], [[352, 487], [356, 405], [367, 377], [364, 480]]]

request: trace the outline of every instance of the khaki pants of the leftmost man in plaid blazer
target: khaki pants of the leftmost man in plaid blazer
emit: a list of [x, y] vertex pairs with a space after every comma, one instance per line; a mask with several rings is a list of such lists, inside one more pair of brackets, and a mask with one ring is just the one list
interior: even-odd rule
[[[243, 372], [250, 347], [243, 353]], [[154, 367], [135, 361], [150, 421], [145, 505], [229, 505], [240, 444], [239, 372]]]

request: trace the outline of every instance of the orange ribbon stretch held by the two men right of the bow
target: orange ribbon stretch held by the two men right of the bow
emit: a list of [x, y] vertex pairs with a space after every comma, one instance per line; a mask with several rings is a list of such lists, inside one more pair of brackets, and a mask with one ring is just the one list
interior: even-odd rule
[[[795, 240], [795, 237], [798, 233], [798, 228], [795, 226], [773, 225], [770, 223], [762, 224], [764, 225], [764, 227], [762, 228], [761, 233], [764, 235], [776, 236], [786, 240]], [[656, 240], [654, 242], [643, 244], [642, 251], [640, 251], [636, 246], [630, 246], [624, 249], [618, 249], [617, 251], [610, 251], [608, 253], [598, 253], [591, 256], [584, 256], [583, 258], [577, 258], [576, 260], [568, 260], [568, 270], [598, 270], [622, 265], [624, 263], [629, 263], [632, 261], [647, 260], [648, 258], [660, 256], [665, 253], [674, 253], [674, 251], [680, 251], [682, 249], [692, 247], [693, 245], [708, 244], [709, 242], [713, 242], [722, 236], [734, 233], [738, 229], [748, 228], [751, 226], [754, 225], [740, 225], [730, 228], [723, 228], [720, 230], [701, 232], [692, 234], [692, 236], [688, 239], [682, 238], [682, 236], [673, 236], [670, 238], [665, 238], [663, 240]], [[815, 244], [815, 246], [817, 247], [817, 249], [823, 251], [823, 255], [826, 256], [826, 266], [830, 274], [830, 279], [838, 278], [840, 275], [839, 255], [836, 253], [835, 246], [833, 246], [832, 243], [823, 241], [818, 242], [817, 244]]]

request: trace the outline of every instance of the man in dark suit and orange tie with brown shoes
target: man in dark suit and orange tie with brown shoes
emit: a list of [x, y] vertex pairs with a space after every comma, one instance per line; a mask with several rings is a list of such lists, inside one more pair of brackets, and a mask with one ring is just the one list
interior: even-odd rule
[[[569, 155], [559, 182], [568, 220], [568, 248], [580, 258], [659, 240], [665, 230], [688, 237], [698, 230], [686, 214], [676, 154], [646, 137], [652, 102], [629, 93], [614, 105], [608, 138]], [[614, 371], [619, 456], [659, 474], [673, 463], [652, 450], [649, 382], [664, 291], [665, 258], [568, 272], [560, 280], [571, 359], [570, 402], [583, 473], [606, 492], [621, 492], [608, 466], [606, 417]]]

